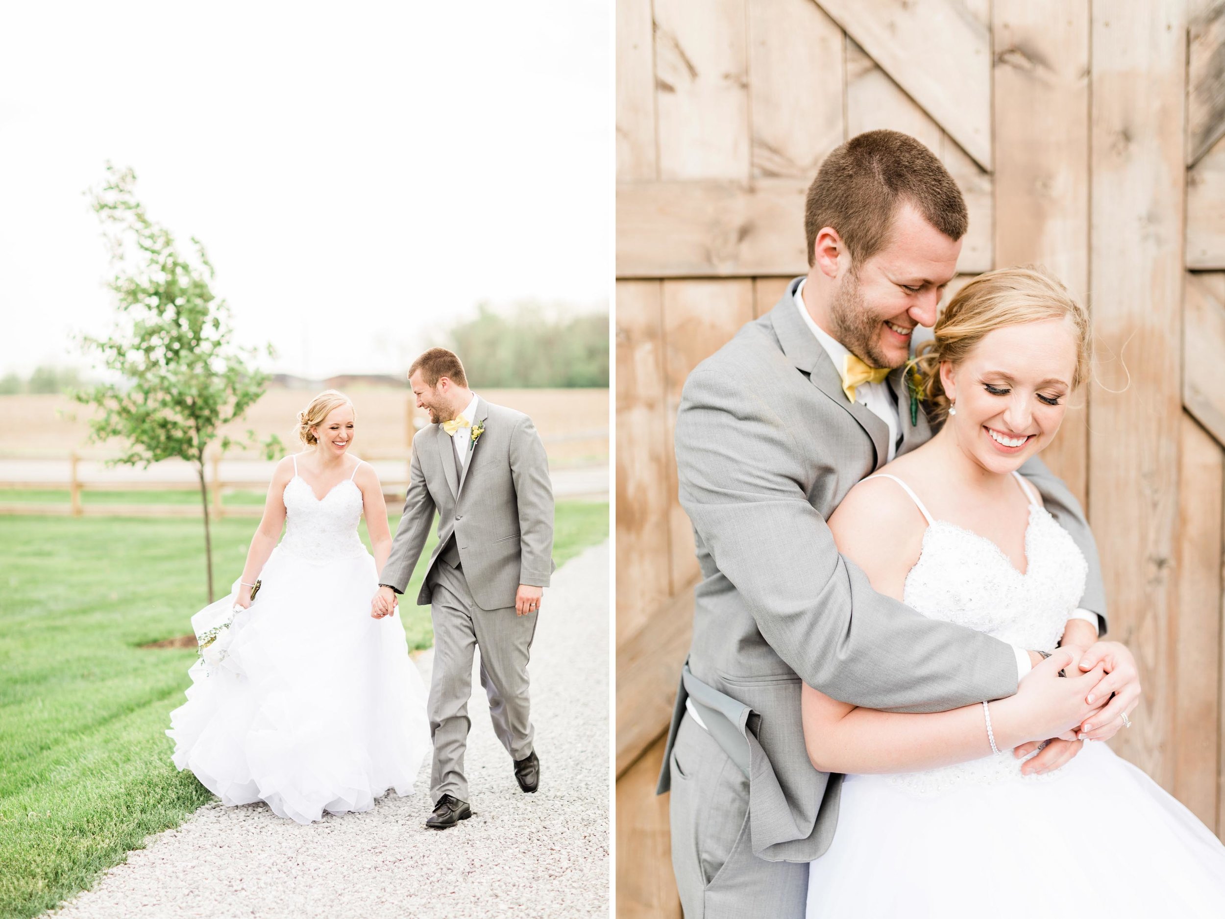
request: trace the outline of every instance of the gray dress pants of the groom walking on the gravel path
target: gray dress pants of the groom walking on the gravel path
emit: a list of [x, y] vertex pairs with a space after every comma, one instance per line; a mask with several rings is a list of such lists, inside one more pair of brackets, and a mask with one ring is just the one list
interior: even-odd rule
[[430, 676], [430, 736], [434, 763], [430, 798], [468, 800], [463, 755], [468, 746], [468, 698], [473, 652], [480, 647], [480, 685], [489, 696], [494, 733], [512, 760], [532, 752], [528, 705], [528, 653], [539, 613], [514, 615], [514, 607], [481, 609], [468, 591], [463, 569], [439, 561], [430, 572], [434, 620], [434, 670]]

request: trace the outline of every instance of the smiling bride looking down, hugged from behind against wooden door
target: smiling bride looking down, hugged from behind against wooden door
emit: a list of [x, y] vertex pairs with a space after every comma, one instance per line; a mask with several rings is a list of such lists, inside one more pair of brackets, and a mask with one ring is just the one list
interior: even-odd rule
[[[1040, 667], [1066, 667], [1102, 692], [1091, 689], [1100, 665], [1078, 676], [1083, 648], [1056, 648], [1085, 560], [1017, 472], [1050, 444], [1087, 375], [1088, 316], [1038, 271], [995, 271], [953, 298], [929, 348], [919, 385], [947, 420], [851, 489], [829, 518], [839, 550], [881, 593], [1054, 652]], [[1042, 735], [1018, 697], [892, 714], [802, 692], [809, 757], [844, 773], [838, 830], [810, 865], [809, 917], [1029, 915], [1052, 906], [1093, 917], [1221, 914], [1225, 845], [1140, 770], [1089, 743], [1129, 727], [1138, 687], [1052, 741], [1068, 752], [1046, 774], [1023, 768]]]

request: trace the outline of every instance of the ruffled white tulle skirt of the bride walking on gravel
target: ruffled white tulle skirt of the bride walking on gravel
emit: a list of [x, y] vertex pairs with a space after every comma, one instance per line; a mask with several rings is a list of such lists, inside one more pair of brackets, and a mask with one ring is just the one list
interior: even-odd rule
[[[326, 562], [273, 550], [219, 665], [191, 667], [170, 713], [174, 765], [223, 804], [267, 801], [299, 823], [408, 794], [430, 747], [425, 686], [399, 614], [371, 619], [368, 554]], [[238, 587], [238, 584], [235, 584]], [[228, 610], [233, 594], [192, 618]]]

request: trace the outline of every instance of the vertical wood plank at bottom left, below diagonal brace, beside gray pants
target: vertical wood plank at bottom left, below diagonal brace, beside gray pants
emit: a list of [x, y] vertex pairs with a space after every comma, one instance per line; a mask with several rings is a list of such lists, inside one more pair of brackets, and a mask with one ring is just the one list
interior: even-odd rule
[[659, 740], [616, 783], [617, 919], [681, 919], [668, 795], [655, 794], [663, 761]]

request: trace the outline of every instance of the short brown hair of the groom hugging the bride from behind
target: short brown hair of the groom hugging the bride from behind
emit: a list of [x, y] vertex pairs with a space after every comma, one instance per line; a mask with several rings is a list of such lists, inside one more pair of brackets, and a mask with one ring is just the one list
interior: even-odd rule
[[865, 131], [837, 147], [821, 164], [804, 206], [809, 267], [823, 227], [838, 232], [853, 265], [871, 259], [884, 248], [903, 201], [949, 239], [965, 235], [969, 217], [960, 189], [936, 154], [909, 134]]

